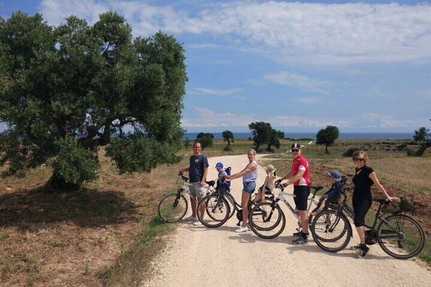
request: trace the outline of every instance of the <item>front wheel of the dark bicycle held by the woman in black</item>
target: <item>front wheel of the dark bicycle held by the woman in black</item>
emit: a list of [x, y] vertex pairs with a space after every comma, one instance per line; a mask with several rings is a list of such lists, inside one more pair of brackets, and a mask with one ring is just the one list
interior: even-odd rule
[[321, 249], [338, 252], [349, 243], [352, 229], [344, 214], [337, 214], [336, 210], [327, 209], [314, 217], [311, 235]]

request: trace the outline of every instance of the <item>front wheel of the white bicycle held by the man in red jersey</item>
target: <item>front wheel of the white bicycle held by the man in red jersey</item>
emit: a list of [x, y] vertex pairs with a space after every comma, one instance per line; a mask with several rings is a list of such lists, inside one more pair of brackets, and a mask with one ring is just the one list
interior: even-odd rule
[[259, 237], [271, 239], [279, 236], [285, 226], [286, 218], [281, 208], [265, 202], [252, 208], [249, 215], [250, 228]]

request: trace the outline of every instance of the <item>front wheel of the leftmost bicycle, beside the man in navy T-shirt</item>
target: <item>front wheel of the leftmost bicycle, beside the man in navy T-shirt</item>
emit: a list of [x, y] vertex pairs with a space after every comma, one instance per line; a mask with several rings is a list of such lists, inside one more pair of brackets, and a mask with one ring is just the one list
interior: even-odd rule
[[158, 204], [158, 216], [167, 222], [175, 222], [187, 212], [187, 200], [180, 193], [169, 194]]

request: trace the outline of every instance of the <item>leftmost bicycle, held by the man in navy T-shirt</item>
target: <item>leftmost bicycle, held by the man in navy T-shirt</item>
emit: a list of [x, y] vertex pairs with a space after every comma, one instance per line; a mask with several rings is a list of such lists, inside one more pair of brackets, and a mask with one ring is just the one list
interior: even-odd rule
[[[166, 222], [175, 222], [181, 220], [187, 213], [188, 203], [183, 195], [185, 192], [190, 195], [192, 200], [198, 203], [195, 195], [190, 191], [189, 186], [192, 185], [189, 183], [190, 179], [183, 176], [182, 174], [178, 175], [179, 180], [182, 180], [182, 183], [177, 189], [177, 192], [166, 195], [160, 200], [158, 204], [158, 215]], [[206, 188], [206, 195], [214, 193], [214, 190], [211, 187], [214, 187], [215, 181], [205, 181], [205, 183], [207, 184], [204, 186]]]

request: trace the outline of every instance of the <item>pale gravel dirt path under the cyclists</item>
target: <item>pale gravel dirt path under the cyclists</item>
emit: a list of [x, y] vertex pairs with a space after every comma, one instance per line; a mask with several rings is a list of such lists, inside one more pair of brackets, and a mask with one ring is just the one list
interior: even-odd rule
[[[258, 155], [257, 160], [261, 156]], [[231, 166], [233, 173], [248, 163], [246, 155], [209, 158], [208, 179], [217, 177], [214, 166], [219, 161]], [[265, 172], [259, 166], [257, 186], [264, 178]], [[231, 187], [239, 202], [241, 179], [233, 180]], [[394, 259], [378, 245], [371, 246], [366, 259], [357, 259], [355, 252], [347, 249], [338, 253], [324, 252], [312, 239], [308, 245], [292, 245], [297, 223], [289, 211], [285, 214], [285, 230], [270, 240], [261, 239], [251, 230], [235, 233], [235, 217], [217, 229], [181, 222], [166, 250], [154, 261], [154, 275], [143, 285], [417, 287], [429, 286], [431, 282], [431, 272], [423, 264], [416, 260]], [[355, 234], [350, 245], [357, 242]]]

